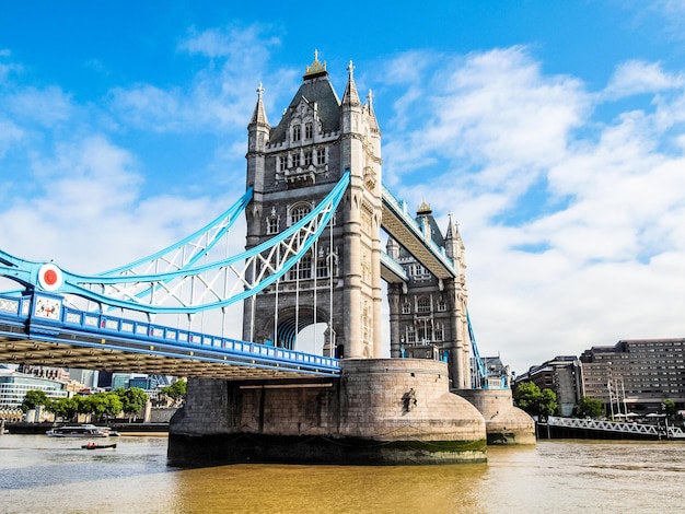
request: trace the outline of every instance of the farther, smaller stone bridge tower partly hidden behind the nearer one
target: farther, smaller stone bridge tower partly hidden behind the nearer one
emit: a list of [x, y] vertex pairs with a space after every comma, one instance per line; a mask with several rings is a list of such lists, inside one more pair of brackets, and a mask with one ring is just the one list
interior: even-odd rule
[[432, 210], [423, 201], [416, 221], [436, 245], [444, 248], [457, 271], [453, 279], [438, 279], [388, 238], [387, 254], [405, 269], [409, 281], [387, 287], [391, 319], [391, 357], [448, 361], [450, 387], [471, 388], [471, 339], [466, 304], [465, 252], [462, 236], [452, 221], [442, 235]]

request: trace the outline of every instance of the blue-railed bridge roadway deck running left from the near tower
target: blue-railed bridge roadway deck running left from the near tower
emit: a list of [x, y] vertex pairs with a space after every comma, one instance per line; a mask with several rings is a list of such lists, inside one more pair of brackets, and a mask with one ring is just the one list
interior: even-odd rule
[[340, 370], [337, 359], [78, 311], [38, 292], [0, 295], [0, 362], [224, 379]]

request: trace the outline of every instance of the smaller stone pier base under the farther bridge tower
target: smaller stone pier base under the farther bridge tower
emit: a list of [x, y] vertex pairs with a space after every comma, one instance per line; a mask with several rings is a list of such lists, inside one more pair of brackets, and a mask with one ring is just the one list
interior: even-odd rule
[[485, 418], [488, 444], [535, 444], [535, 422], [513, 406], [511, 389], [460, 389]]

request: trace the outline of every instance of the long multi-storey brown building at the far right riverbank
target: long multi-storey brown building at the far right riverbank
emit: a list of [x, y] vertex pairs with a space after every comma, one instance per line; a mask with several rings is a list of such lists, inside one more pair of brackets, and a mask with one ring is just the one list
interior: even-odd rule
[[580, 357], [585, 396], [607, 413], [649, 413], [670, 399], [685, 408], [685, 338], [629, 339]]

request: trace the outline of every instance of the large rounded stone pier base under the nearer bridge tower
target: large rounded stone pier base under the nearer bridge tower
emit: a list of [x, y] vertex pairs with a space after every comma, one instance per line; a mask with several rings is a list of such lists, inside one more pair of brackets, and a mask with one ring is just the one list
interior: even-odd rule
[[341, 362], [310, 382], [193, 378], [170, 424], [169, 460], [422, 465], [483, 463], [486, 423], [449, 392], [446, 365], [422, 359]]

